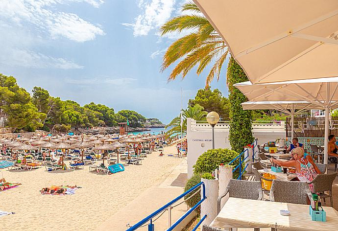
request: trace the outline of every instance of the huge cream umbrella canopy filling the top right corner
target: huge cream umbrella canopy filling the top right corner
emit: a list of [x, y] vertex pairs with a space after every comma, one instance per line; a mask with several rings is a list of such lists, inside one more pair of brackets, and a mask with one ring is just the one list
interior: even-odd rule
[[337, 0], [193, 0], [253, 84], [338, 75]]

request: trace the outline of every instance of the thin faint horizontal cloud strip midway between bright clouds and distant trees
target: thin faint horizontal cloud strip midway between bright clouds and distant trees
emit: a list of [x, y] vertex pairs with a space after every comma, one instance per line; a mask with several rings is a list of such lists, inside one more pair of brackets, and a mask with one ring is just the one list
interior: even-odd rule
[[95, 78], [84, 78], [84, 79], [71, 79], [66, 78], [65, 82], [70, 84], [77, 84], [81, 86], [92, 86], [92, 85], [128, 85], [135, 82], [137, 79], [134, 78], [108, 78], [108, 77], [95, 77]]

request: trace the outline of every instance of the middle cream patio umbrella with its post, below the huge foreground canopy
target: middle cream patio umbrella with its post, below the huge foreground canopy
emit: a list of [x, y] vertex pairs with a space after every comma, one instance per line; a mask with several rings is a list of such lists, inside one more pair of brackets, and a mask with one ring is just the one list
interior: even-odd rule
[[328, 161], [329, 114], [338, 105], [338, 77], [252, 85], [234, 84], [249, 101], [304, 100], [325, 109], [324, 163]]

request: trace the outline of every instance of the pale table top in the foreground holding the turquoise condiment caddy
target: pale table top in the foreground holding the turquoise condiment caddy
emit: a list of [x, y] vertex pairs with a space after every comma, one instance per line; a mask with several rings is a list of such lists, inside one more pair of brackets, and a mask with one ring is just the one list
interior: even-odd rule
[[[290, 216], [279, 213], [285, 209]], [[211, 223], [215, 228], [277, 228], [288, 231], [337, 230], [338, 211], [323, 207], [326, 222], [312, 221], [308, 205], [297, 205], [230, 197]], [[277, 225], [276, 225], [277, 224]]]

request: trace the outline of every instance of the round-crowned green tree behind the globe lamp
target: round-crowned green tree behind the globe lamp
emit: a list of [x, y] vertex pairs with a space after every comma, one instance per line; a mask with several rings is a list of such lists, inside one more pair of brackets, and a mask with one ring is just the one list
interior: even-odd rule
[[190, 106], [201, 105], [206, 112], [217, 112], [222, 120], [229, 120], [228, 99], [222, 96], [218, 89], [212, 91], [210, 88], [199, 89], [194, 99], [189, 99]]

